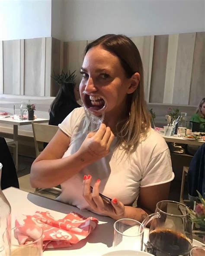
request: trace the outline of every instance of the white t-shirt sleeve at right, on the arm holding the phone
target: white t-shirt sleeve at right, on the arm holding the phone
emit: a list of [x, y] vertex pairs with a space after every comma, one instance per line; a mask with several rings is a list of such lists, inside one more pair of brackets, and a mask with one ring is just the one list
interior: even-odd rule
[[170, 182], [174, 179], [169, 149], [155, 156], [145, 168], [140, 187], [150, 187]]

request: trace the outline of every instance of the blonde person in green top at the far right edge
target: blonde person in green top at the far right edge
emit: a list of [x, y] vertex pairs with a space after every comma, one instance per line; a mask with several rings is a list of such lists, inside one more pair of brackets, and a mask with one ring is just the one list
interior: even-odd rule
[[199, 132], [205, 133], [205, 98], [200, 101], [196, 113], [193, 114], [190, 121], [199, 123]]

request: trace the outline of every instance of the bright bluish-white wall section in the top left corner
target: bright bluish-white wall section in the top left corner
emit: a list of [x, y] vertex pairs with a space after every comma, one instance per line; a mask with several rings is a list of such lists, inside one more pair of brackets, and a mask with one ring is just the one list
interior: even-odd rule
[[51, 36], [51, 0], [0, 0], [0, 40]]

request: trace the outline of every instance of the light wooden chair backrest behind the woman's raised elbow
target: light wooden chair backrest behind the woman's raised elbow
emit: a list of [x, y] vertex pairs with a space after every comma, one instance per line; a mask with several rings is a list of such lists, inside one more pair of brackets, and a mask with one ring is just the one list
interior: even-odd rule
[[32, 128], [35, 143], [35, 154], [37, 157], [41, 153], [38, 142], [49, 143], [58, 131], [58, 126], [43, 123], [32, 123]]

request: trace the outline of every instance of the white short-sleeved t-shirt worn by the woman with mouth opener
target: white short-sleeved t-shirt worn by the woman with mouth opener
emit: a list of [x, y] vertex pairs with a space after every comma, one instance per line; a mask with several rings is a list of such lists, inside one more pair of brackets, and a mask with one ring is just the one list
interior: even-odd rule
[[[76, 108], [59, 124], [60, 129], [70, 137], [70, 146], [63, 157], [77, 152], [86, 138], [87, 134], [82, 133], [84, 117], [83, 107]], [[89, 210], [90, 207], [82, 195], [83, 176], [89, 174], [92, 176], [92, 186], [98, 178], [101, 180], [99, 189], [101, 194], [109, 198], [115, 197], [125, 205], [131, 205], [138, 198], [140, 187], [159, 185], [173, 180], [174, 174], [167, 143], [153, 129], [150, 130], [147, 138], [138, 144], [136, 152], [131, 153], [129, 158], [123, 154], [124, 150], [116, 149], [113, 144], [108, 156], [64, 181], [61, 184], [62, 193], [57, 199], [76, 205], [81, 210]], [[69, 169], [67, 171], [69, 172]]]

